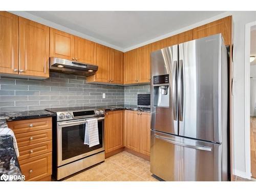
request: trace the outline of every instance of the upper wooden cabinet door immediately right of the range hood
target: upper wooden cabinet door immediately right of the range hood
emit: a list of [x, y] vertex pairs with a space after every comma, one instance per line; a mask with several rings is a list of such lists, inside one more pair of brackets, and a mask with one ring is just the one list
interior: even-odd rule
[[95, 74], [95, 81], [110, 82], [110, 48], [95, 44], [95, 64], [98, 71]]

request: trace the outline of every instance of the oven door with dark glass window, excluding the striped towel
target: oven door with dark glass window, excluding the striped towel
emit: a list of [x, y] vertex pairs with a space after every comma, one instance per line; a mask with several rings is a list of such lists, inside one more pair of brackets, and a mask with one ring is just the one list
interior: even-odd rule
[[58, 166], [104, 151], [104, 117], [97, 118], [99, 144], [92, 147], [83, 144], [87, 119], [57, 122]]

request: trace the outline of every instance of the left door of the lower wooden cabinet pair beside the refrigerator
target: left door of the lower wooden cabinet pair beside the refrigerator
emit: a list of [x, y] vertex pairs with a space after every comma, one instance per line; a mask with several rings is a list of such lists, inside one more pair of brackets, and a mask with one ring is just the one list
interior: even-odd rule
[[125, 146], [140, 152], [140, 115], [137, 111], [125, 111]]

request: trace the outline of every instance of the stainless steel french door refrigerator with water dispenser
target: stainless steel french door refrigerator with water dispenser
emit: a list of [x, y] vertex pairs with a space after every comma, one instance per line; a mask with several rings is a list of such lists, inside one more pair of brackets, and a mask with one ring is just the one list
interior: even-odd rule
[[228, 180], [227, 50], [221, 34], [151, 53], [151, 172]]

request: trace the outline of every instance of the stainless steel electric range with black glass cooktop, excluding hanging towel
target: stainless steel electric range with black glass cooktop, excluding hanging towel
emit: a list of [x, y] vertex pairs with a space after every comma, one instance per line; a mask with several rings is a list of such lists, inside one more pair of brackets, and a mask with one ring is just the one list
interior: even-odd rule
[[[57, 180], [105, 160], [104, 110], [81, 108], [47, 109], [57, 114], [53, 124], [53, 175]], [[97, 118], [99, 144], [84, 143], [84, 124]]]

